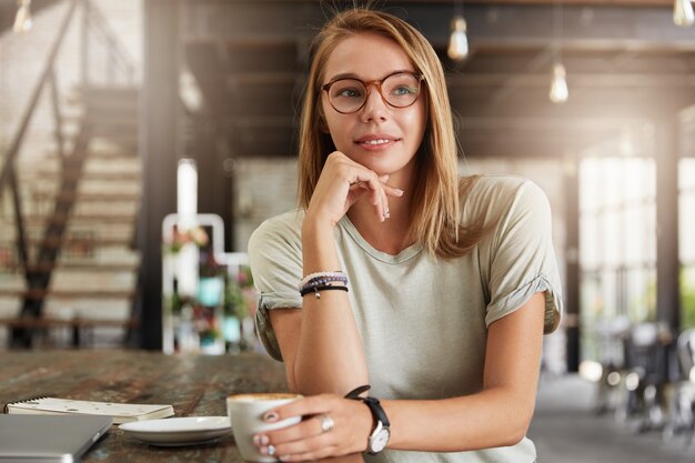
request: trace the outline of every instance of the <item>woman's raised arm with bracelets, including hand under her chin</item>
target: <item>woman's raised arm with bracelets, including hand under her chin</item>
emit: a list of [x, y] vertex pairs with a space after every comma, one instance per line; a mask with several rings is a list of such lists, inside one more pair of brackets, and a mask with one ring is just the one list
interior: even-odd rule
[[[373, 171], [341, 152], [326, 159], [302, 223], [304, 275], [342, 270], [334, 228], [357, 201], [370, 201], [375, 220], [384, 220], [387, 195], [403, 192], [387, 187]], [[350, 275], [349, 275], [350, 276]], [[342, 291], [308, 294], [302, 309], [271, 311], [291, 390], [305, 395], [344, 395], [367, 384], [362, 341], [350, 300]]]

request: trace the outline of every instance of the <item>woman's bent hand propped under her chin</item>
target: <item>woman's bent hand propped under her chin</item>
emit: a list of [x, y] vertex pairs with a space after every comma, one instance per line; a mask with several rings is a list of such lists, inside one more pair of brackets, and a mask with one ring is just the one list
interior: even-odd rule
[[340, 151], [329, 154], [306, 217], [326, 220], [335, 225], [360, 200], [369, 200], [380, 222], [389, 219], [389, 197], [401, 197], [403, 190], [386, 184], [389, 175], [379, 177]]

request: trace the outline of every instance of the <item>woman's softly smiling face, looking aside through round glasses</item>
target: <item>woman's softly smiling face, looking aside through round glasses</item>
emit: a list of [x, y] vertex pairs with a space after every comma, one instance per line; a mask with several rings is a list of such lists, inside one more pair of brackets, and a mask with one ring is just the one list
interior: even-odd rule
[[[375, 33], [360, 33], [343, 40], [333, 50], [321, 84], [344, 77], [363, 82], [380, 81], [399, 71], [415, 72], [415, 69], [395, 41]], [[423, 94], [407, 108], [394, 108], [382, 99], [376, 85], [370, 85], [364, 107], [349, 114], [331, 105], [328, 92], [321, 94], [328, 131], [338, 151], [380, 175], [392, 175], [395, 184], [410, 180], [415, 152], [425, 131]], [[396, 177], [402, 181], [397, 182]]]

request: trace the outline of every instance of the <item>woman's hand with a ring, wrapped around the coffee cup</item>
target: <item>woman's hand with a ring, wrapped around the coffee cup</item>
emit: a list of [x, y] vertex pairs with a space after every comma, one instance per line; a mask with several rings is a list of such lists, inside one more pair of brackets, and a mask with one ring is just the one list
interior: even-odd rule
[[263, 419], [276, 422], [290, 416], [304, 420], [253, 437], [261, 453], [283, 462], [301, 462], [366, 450], [372, 413], [361, 401], [335, 394], [313, 395], [271, 410]]

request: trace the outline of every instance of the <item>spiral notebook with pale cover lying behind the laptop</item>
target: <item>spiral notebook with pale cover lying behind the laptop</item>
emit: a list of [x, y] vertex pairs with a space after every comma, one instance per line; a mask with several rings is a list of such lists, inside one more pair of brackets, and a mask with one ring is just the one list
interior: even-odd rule
[[33, 397], [4, 405], [4, 413], [31, 415], [100, 415], [110, 416], [114, 424], [155, 420], [174, 414], [171, 405], [75, 401], [59, 397]]

